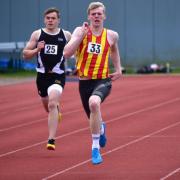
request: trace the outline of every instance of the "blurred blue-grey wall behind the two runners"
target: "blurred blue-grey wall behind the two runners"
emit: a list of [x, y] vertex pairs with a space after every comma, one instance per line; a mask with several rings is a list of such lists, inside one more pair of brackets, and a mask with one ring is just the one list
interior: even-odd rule
[[[0, 66], [33, 68], [21, 51], [31, 33], [44, 26], [43, 12], [57, 7], [61, 27], [73, 32], [87, 21], [90, 0], [1, 0]], [[124, 67], [138, 69], [149, 64], [180, 67], [179, 0], [102, 0], [106, 6], [105, 27], [119, 33]], [[6, 65], [5, 65], [6, 64]], [[4, 67], [3, 67], [4, 66]]]

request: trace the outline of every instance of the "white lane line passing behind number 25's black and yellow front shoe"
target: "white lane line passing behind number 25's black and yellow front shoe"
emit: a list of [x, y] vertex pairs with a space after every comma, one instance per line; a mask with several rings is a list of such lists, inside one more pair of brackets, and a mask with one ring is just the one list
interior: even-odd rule
[[[163, 103], [156, 104], [154, 106], [150, 106], [150, 107], [147, 107], [147, 108], [140, 109], [138, 111], [134, 111], [132, 113], [128, 113], [128, 114], [125, 114], [125, 115], [122, 115], [122, 116], [118, 116], [118, 117], [116, 117], [114, 119], [106, 121], [106, 123], [111, 123], [111, 122], [114, 122], [114, 121], [117, 121], [117, 120], [120, 120], [120, 119], [123, 119], [123, 118], [126, 118], [126, 117], [130, 117], [130, 116], [136, 115], [136, 114], [141, 113], [141, 112], [149, 111], [149, 110], [152, 110], [152, 109], [155, 109], [155, 108], [158, 108], [158, 107], [161, 107], [161, 106], [164, 106], [164, 105], [167, 105], [167, 104], [179, 101], [179, 100], [180, 100], [180, 98], [176, 98], [176, 99], [172, 99], [172, 100], [169, 100], [169, 101], [165, 101]], [[72, 131], [70, 133], [66, 133], [64, 135], [58, 136], [56, 139], [60, 139], [60, 138], [66, 137], [66, 136], [70, 136], [70, 135], [73, 135], [73, 134], [76, 134], [76, 133], [79, 133], [79, 132], [82, 132], [82, 131], [85, 131], [85, 130], [88, 130], [88, 129], [89, 129], [89, 127], [81, 128], [81, 129]], [[23, 148], [20, 148], [20, 149], [16, 149], [14, 151], [9, 151], [7, 153], [0, 154], [0, 158], [4, 157], [4, 156], [7, 156], [7, 155], [10, 155], [10, 154], [13, 154], [13, 153], [16, 153], [16, 152], [19, 152], [19, 151], [22, 151], [22, 150], [30, 149], [32, 147], [41, 145], [41, 144], [46, 143], [46, 142], [47, 141], [42, 141], [42, 142], [35, 143], [35, 144], [29, 145], [29, 146], [26, 146], [26, 147], [23, 147]]]

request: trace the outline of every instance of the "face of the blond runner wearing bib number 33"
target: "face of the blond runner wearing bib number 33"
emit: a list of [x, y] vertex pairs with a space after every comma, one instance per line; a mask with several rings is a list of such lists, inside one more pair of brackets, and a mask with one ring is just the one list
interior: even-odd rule
[[103, 7], [98, 7], [96, 9], [92, 9], [89, 12], [88, 20], [90, 21], [90, 24], [92, 24], [95, 27], [99, 27], [103, 24], [103, 21], [105, 19], [105, 14], [103, 11]]

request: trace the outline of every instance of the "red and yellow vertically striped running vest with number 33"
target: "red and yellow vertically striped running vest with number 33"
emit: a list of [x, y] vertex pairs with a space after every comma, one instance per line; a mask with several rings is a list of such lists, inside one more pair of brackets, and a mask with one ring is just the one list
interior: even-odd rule
[[105, 79], [108, 77], [110, 45], [107, 29], [100, 36], [94, 36], [89, 29], [76, 52], [76, 68], [80, 77]]

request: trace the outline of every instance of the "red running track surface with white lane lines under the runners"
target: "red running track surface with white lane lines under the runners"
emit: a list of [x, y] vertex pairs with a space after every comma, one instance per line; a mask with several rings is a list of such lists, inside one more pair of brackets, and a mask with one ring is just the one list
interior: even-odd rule
[[0, 87], [0, 179], [180, 179], [180, 76], [124, 76], [102, 105], [103, 163], [91, 164], [91, 137], [78, 83], [67, 82], [56, 150], [46, 150], [47, 114], [35, 82]]

